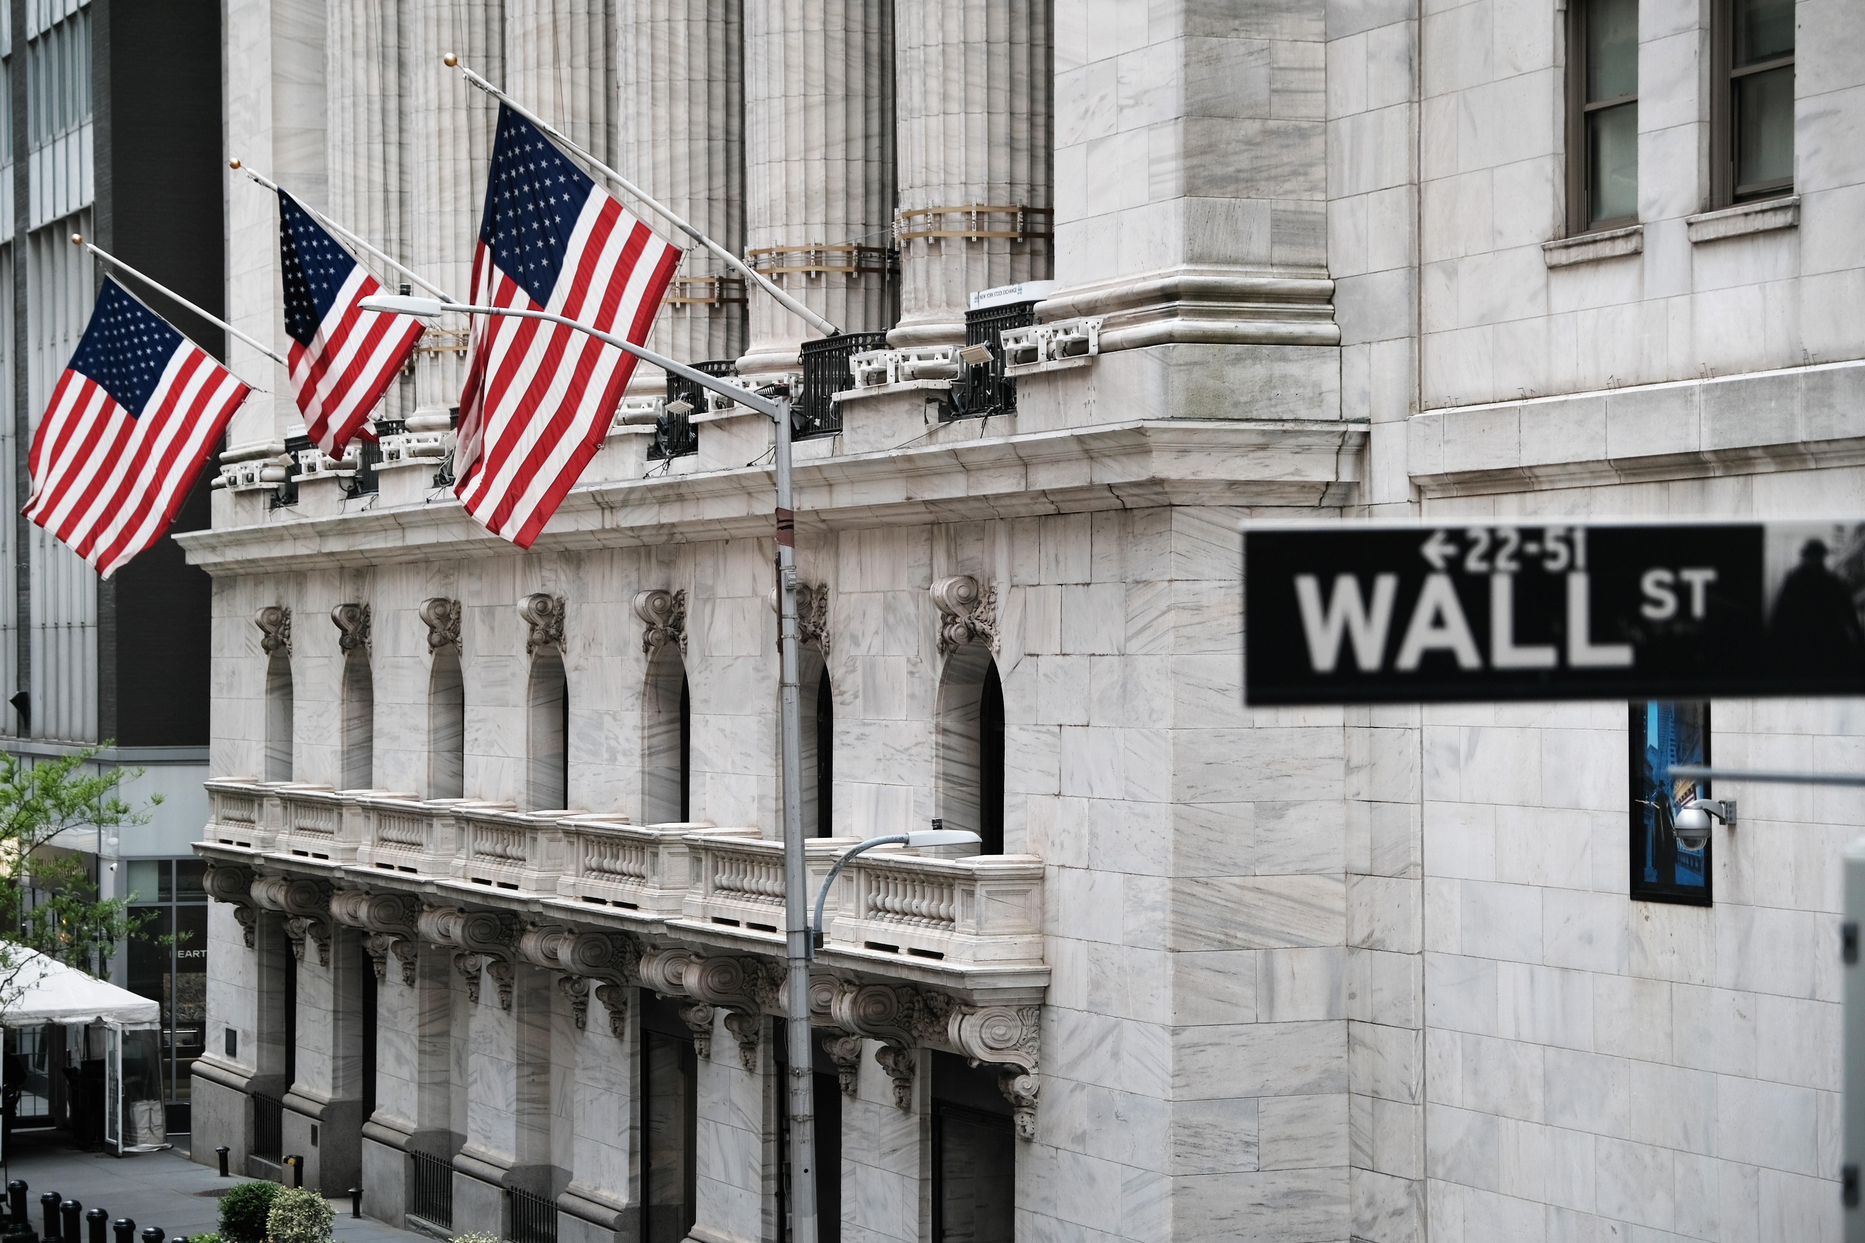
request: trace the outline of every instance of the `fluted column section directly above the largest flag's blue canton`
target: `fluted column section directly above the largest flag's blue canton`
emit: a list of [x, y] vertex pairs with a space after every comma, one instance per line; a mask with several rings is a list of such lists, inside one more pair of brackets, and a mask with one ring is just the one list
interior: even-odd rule
[[599, 160], [615, 151], [612, 0], [505, 0], [505, 89]]

